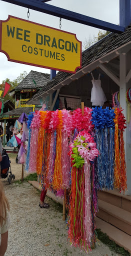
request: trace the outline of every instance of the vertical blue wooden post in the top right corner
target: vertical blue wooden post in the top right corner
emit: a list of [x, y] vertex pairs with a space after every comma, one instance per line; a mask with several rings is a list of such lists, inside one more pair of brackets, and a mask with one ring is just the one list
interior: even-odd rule
[[131, 18], [130, 18], [130, 8], [131, 1], [130, 0], [119, 0], [119, 25], [120, 26], [128, 26]]

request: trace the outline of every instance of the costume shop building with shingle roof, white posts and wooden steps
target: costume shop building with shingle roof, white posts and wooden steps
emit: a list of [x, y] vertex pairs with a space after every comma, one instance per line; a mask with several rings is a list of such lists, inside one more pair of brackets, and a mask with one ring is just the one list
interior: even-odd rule
[[[126, 90], [131, 87], [131, 25], [121, 34], [109, 33], [94, 45], [82, 52], [82, 66], [76, 73], [59, 71], [47, 82], [43, 89], [28, 101], [29, 104], [39, 104], [49, 96], [48, 106], [52, 110], [59, 95], [66, 99], [67, 106], [72, 109], [84, 101], [84, 105], [91, 107], [91, 72], [95, 79], [100, 73], [101, 87], [109, 102], [112, 93], [119, 91], [120, 106], [127, 120]], [[56, 90], [55, 97], [53, 92]], [[75, 99], [75, 100], [74, 100]], [[75, 103], [71, 104], [74, 100]], [[62, 102], [64, 106], [64, 101]], [[60, 106], [59, 106], [60, 107]], [[128, 131], [124, 131], [125, 158], [127, 166], [127, 191], [120, 194], [113, 191], [98, 192], [99, 212], [96, 219], [97, 227], [113, 239], [117, 244], [131, 252], [131, 145], [128, 143]]]

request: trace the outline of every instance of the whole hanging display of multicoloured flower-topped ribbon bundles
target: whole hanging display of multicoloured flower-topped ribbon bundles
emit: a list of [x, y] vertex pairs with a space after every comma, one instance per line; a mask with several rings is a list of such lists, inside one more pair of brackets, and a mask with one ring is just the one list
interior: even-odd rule
[[26, 170], [40, 175], [43, 190], [67, 194], [68, 238], [86, 252], [95, 241], [97, 189], [126, 189], [121, 111], [84, 107], [82, 114], [80, 108], [41, 109], [28, 116]]

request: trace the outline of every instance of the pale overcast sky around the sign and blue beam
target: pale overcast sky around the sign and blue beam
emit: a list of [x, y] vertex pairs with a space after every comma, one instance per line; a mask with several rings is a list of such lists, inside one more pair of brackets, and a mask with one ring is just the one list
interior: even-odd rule
[[[47, 3], [114, 24], [119, 23], [119, 0], [50, 0]], [[29, 11], [30, 21], [59, 28], [58, 17], [31, 9]], [[9, 14], [27, 19], [27, 8], [0, 0], [0, 20], [6, 20]], [[85, 37], [88, 38], [89, 35], [97, 36], [99, 30], [65, 19], [61, 20], [61, 25], [62, 30], [75, 33], [77, 39], [82, 42], [85, 40]], [[23, 73], [24, 70], [26, 70], [27, 73], [29, 73], [30, 70], [50, 73], [49, 69], [7, 61], [6, 55], [0, 52], [0, 82], [5, 78], [13, 80], [20, 73]]]

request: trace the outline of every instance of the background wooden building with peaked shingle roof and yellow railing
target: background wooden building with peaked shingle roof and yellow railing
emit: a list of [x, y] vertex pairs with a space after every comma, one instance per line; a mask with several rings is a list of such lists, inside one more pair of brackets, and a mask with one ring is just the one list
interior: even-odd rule
[[29, 114], [29, 112], [33, 111], [34, 109], [40, 109], [40, 103], [39, 106], [35, 106], [34, 104], [27, 104], [27, 101], [31, 96], [38, 93], [40, 89], [44, 88], [49, 80], [50, 74], [31, 70], [13, 90], [9, 91], [10, 96], [15, 98], [15, 108], [14, 105], [12, 107], [13, 109], [9, 106], [8, 111], [5, 104], [4, 112], [0, 115], [0, 121], [4, 122], [3, 146], [5, 145], [6, 121], [9, 120], [10, 122], [14, 123], [21, 113], [25, 112], [26, 114]]

